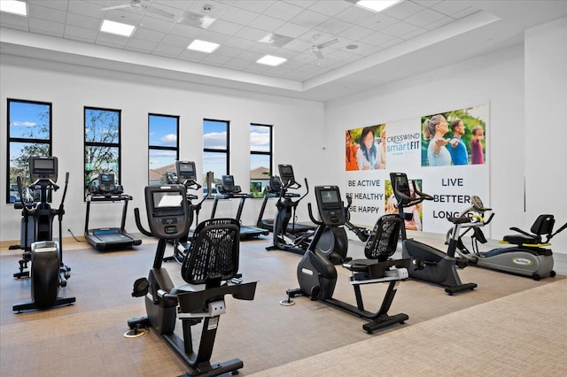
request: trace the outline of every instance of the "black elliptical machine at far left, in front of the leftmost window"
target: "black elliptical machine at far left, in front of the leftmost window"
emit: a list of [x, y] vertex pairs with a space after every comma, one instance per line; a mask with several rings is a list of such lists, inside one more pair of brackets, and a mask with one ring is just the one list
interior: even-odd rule
[[[14, 277], [29, 276], [27, 262], [31, 262], [31, 301], [12, 306], [14, 312], [22, 312], [35, 309], [48, 309], [52, 306], [73, 304], [75, 297], [59, 297], [59, 287], [66, 287], [67, 279], [70, 278], [71, 269], [63, 264], [63, 235], [61, 223], [65, 210], [63, 203], [69, 182], [69, 173], [65, 177], [65, 189], [63, 197], [57, 210], [52, 209], [48, 203], [48, 193], [58, 190], [58, 159], [55, 157], [29, 158], [30, 181], [29, 188], [40, 190], [40, 203], [29, 205], [24, 203], [21, 178], [17, 177], [19, 198], [22, 204], [23, 224], [25, 226], [25, 252], [19, 261], [19, 273]], [[53, 241], [53, 219], [58, 217], [59, 241]], [[27, 224], [33, 219], [34, 240], [31, 249], [27, 251]], [[27, 273], [27, 274], [26, 274]], [[18, 276], [16, 276], [18, 275]]]

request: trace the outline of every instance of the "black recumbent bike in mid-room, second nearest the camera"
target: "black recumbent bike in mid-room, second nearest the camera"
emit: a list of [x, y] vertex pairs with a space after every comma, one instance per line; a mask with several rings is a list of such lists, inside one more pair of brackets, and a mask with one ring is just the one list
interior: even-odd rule
[[[410, 259], [390, 259], [396, 251], [403, 220], [397, 215], [385, 215], [378, 219], [364, 247], [364, 255], [367, 259], [355, 259], [343, 264], [352, 273], [349, 282], [356, 296], [356, 306], [353, 306], [332, 297], [337, 283], [337, 269], [315, 247], [326, 228], [340, 227], [346, 221], [340, 192], [337, 186], [317, 186], [315, 198], [321, 220], [313, 217], [309, 204], [309, 217], [318, 227], [307, 252], [299, 261], [297, 269], [299, 289], [288, 289], [286, 291], [288, 299], [280, 304], [291, 305], [291, 297], [294, 296], [308, 296], [312, 301], [320, 300], [349, 314], [369, 319], [370, 321], [362, 326], [369, 334], [378, 328], [396, 323], [403, 324], [409, 318], [407, 314], [388, 315], [400, 281], [408, 278]], [[362, 302], [361, 285], [377, 282], [387, 282], [388, 289], [380, 310], [368, 312]]]

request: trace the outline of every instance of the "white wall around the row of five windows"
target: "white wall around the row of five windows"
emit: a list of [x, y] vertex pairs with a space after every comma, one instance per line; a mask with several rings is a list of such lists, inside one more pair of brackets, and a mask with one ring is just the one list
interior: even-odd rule
[[[202, 169], [203, 119], [230, 121], [230, 173], [244, 189], [250, 177], [251, 123], [274, 125], [274, 162], [292, 164], [298, 177], [310, 173], [305, 161], [317, 161], [321, 153], [311, 150], [313, 139], [322, 135], [323, 105], [276, 96], [260, 96], [223, 88], [143, 78], [61, 65], [41, 60], [2, 56], [0, 65], [0, 241], [19, 240], [20, 212], [5, 204], [7, 145], [7, 98], [52, 104], [53, 155], [59, 160], [59, 181], [70, 173], [66, 196], [64, 236], [71, 228], [82, 235], [86, 205], [82, 198], [83, 107], [121, 110], [122, 177], [126, 192], [134, 196], [128, 206], [126, 227], [137, 232], [133, 208], [144, 208], [148, 171], [148, 113], [180, 116], [180, 158], [195, 160]], [[55, 195], [58, 204], [61, 191]], [[209, 217], [212, 203], [204, 204], [199, 219]], [[243, 224], [255, 224], [260, 199], [245, 204]], [[115, 207], [112, 207], [115, 206]], [[219, 205], [217, 216], [234, 216], [237, 201]], [[307, 211], [307, 210], [306, 210]], [[120, 204], [92, 204], [89, 227], [119, 227]], [[271, 215], [271, 209], [267, 216]], [[299, 213], [307, 219], [306, 212]]]

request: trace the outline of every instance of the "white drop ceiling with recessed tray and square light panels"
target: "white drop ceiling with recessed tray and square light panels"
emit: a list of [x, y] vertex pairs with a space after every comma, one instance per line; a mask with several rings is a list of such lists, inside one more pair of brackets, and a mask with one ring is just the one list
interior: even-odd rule
[[[345, 0], [134, 3], [27, 1], [27, 17], [0, 13], [0, 53], [324, 102], [521, 43], [567, 16], [564, 0], [404, 0], [380, 13]], [[102, 33], [104, 19], [136, 28]], [[188, 50], [195, 39], [220, 47]], [[264, 55], [287, 60], [256, 63]]]

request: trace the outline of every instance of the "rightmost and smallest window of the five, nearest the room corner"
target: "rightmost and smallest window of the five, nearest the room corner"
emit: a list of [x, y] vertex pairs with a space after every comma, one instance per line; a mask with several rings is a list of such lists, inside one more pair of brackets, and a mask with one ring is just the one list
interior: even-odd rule
[[263, 197], [272, 173], [272, 126], [250, 125], [250, 192]]

